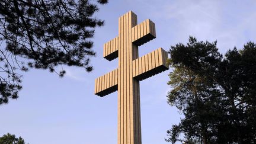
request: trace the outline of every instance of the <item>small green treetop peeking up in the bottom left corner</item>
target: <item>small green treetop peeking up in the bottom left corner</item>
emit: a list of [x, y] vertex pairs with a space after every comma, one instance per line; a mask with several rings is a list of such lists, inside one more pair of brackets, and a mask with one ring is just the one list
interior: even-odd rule
[[15, 135], [7, 133], [7, 135], [0, 137], [0, 144], [25, 144], [25, 142], [23, 138], [17, 138]]

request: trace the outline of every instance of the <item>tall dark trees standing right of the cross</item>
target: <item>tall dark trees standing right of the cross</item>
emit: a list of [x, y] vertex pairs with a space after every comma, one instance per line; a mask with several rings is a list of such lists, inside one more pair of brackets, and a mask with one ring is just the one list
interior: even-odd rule
[[169, 50], [168, 103], [185, 117], [167, 142], [256, 143], [256, 44], [225, 56], [216, 44], [190, 37]]

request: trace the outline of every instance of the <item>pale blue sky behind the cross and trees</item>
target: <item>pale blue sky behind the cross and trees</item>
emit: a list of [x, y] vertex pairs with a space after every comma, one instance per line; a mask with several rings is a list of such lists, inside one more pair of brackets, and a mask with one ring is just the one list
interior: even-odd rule
[[[24, 73], [20, 98], [0, 107], [0, 135], [9, 132], [30, 144], [117, 143], [117, 92], [103, 98], [94, 95], [94, 79], [117, 68], [117, 59], [103, 58], [103, 44], [117, 36], [120, 15], [132, 10], [138, 23], [150, 18], [156, 24], [156, 39], [140, 46], [139, 56], [187, 43], [189, 36], [217, 40], [224, 53], [256, 42], [255, 8], [254, 0], [110, 0], [95, 14], [105, 26], [95, 31], [94, 71], [66, 67], [64, 78], [36, 69]], [[166, 131], [182, 117], [167, 104], [170, 71], [140, 82], [142, 143], [166, 143]]]

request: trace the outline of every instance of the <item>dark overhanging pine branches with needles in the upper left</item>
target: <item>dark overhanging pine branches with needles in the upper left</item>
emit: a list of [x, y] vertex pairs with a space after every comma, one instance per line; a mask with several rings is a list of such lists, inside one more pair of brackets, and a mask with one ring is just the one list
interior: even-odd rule
[[[107, 0], [1, 0], [0, 1], [0, 105], [17, 98], [21, 71], [68, 65], [92, 71], [89, 64], [97, 3]], [[65, 70], [56, 72], [65, 75]]]

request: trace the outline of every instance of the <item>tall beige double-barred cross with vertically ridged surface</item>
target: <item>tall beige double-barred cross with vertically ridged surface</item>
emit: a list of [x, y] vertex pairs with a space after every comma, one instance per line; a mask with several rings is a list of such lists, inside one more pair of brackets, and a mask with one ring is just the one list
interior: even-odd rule
[[118, 90], [118, 144], [142, 143], [139, 81], [169, 69], [162, 48], [139, 57], [138, 46], [155, 37], [155, 24], [148, 19], [137, 25], [137, 15], [129, 11], [119, 18], [119, 35], [104, 44], [104, 58], [119, 57], [119, 66], [95, 79], [95, 94]]

